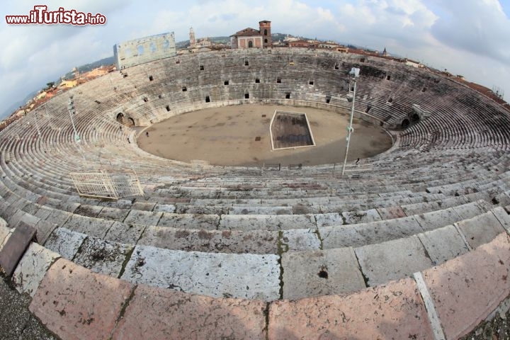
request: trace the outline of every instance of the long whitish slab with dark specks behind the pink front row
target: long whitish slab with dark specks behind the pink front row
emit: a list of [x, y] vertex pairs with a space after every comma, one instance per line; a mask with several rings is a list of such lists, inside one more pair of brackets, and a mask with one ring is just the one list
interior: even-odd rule
[[276, 255], [210, 254], [136, 246], [122, 278], [210, 297], [276, 300]]

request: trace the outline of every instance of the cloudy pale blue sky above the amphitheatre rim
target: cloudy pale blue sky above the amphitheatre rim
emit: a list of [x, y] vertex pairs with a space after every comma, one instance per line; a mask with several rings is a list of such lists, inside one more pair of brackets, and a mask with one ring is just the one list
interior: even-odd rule
[[[101, 13], [104, 26], [6, 24], [33, 6]], [[4, 0], [0, 115], [72, 67], [113, 55], [116, 42], [165, 32], [231, 35], [260, 20], [273, 33], [350, 42], [463, 74], [510, 98], [510, 0]]]

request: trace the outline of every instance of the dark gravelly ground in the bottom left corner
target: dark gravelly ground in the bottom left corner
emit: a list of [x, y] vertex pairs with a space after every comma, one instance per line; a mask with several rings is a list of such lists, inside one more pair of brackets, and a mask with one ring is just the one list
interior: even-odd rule
[[30, 297], [11, 287], [8, 278], [0, 274], [0, 339], [57, 340], [28, 310]]

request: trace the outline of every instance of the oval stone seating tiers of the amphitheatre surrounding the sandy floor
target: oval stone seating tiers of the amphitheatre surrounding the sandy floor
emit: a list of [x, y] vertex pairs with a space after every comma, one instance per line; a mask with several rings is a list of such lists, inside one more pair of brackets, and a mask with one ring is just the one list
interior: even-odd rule
[[[344, 176], [338, 160], [217, 165], [138, 145], [168, 118], [232, 106], [345, 121], [352, 67], [355, 120], [391, 141]], [[458, 339], [508, 311], [510, 113], [441, 74], [204, 52], [81, 84], [0, 139], [0, 247], [4, 263], [23, 254], [4, 270], [62, 339]]]

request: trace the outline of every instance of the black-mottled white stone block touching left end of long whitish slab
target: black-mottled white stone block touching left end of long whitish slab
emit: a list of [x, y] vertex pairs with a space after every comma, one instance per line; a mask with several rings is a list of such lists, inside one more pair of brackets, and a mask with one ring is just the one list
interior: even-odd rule
[[118, 277], [126, 256], [133, 246], [87, 237], [81, 245], [74, 263], [96, 273]]

